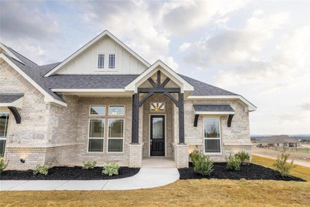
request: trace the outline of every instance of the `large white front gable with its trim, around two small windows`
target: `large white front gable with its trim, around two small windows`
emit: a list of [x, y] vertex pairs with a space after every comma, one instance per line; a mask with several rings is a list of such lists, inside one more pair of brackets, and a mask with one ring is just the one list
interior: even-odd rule
[[[100, 67], [99, 55], [103, 61]], [[109, 55], [115, 55], [114, 68], [109, 68]], [[45, 77], [53, 74], [141, 74], [148, 67], [147, 61], [105, 30]]]

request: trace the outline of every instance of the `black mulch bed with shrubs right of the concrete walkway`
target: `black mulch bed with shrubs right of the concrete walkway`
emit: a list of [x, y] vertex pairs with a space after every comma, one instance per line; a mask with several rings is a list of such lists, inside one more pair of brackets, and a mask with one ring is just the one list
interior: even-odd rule
[[214, 163], [214, 170], [210, 176], [203, 176], [194, 171], [194, 166], [190, 163], [189, 168], [178, 169], [180, 179], [270, 179], [284, 181], [305, 181], [299, 177], [282, 177], [280, 172], [271, 168], [265, 168], [256, 164], [241, 166], [240, 171], [230, 171], [226, 169], [226, 163]]

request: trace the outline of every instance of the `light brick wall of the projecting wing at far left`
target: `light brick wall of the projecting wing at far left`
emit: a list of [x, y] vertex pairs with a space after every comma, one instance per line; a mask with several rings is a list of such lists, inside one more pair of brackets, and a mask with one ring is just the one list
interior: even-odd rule
[[[0, 92], [23, 92], [21, 124], [10, 112], [6, 151], [10, 169], [29, 169], [37, 164], [60, 164], [74, 153], [77, 99], [65, 97], [68, 107], [44, 102], [44, 96], [8, 63], [0, 64]], [[1, 108], [3, 110], [3, 108]], [[25, 159], [22, 164], [20, 159]]]

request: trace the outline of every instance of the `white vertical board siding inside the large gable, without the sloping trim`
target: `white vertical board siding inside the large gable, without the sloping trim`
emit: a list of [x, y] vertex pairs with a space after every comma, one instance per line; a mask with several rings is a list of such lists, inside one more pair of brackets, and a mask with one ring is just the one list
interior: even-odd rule
[[[105, 68], [99, 69], [98, 55], [105, 55]], [[109, 54], [115, 54], [115, 69], [109, 69]], [[104, 37], [81, 55], [63, 66], [56, 74], [141, 74], [147, 66], [118, 45]]]

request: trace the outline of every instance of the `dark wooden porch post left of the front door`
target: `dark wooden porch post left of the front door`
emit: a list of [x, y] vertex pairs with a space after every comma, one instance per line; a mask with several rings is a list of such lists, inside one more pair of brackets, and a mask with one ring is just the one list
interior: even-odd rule
[[132, 144], [139, 143], [139, 94], [132, 96]]

